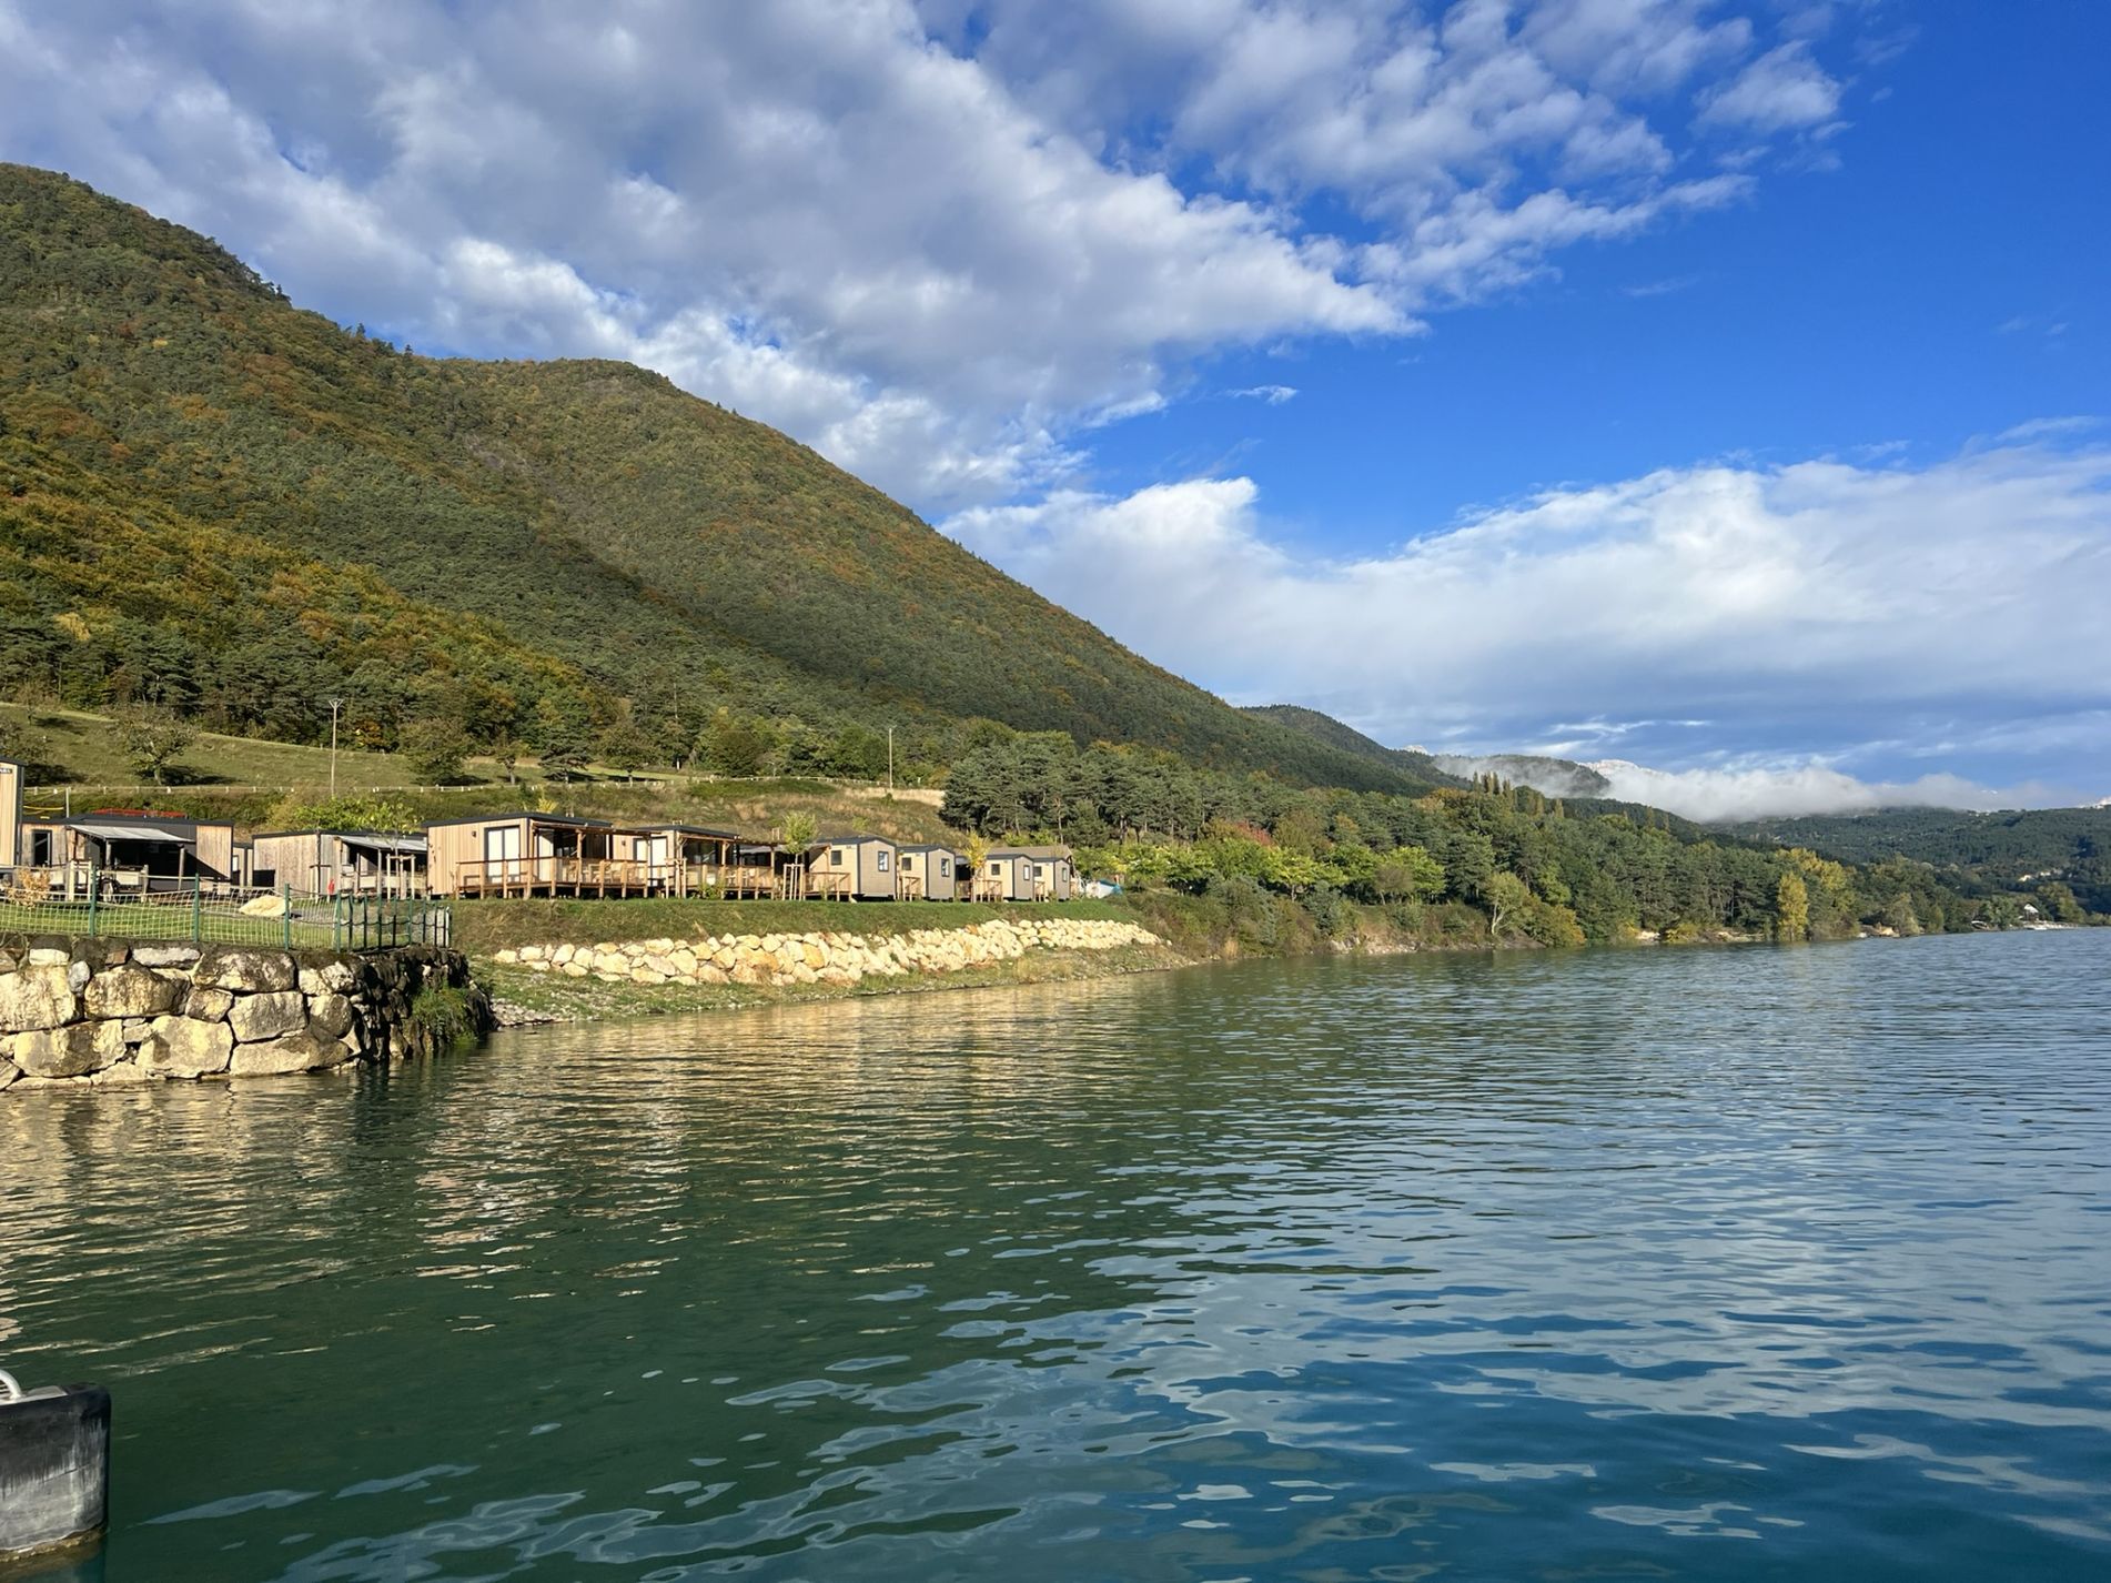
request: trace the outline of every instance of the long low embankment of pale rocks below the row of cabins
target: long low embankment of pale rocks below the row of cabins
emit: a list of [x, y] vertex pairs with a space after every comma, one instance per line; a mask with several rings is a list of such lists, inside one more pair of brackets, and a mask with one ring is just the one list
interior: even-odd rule
[[597, 946], [521, 946], [494, 962], [604, 984], [859, 984], [906, 973], [958, 973], [1030, 950], [1104, 952], [1163, 943], [1148, 929], [1108, 918], [994, 918], [967, 929], [901, 935], [714, 935]]

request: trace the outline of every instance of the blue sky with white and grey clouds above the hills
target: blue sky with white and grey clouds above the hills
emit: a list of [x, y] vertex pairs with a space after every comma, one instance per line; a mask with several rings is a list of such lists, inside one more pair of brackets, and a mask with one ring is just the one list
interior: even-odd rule
[[0, 0], [0, 158], [625, 357], [1233, 703], [2111, 796], [2096, 0]]

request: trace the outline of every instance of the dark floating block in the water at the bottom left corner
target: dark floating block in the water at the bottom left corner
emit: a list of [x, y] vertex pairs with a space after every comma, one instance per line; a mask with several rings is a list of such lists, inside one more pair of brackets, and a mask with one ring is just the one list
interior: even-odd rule
[[0, 1560], [91, 1539], [110, 1515], [110, 1391], [23, 1391], [0, 1370]]

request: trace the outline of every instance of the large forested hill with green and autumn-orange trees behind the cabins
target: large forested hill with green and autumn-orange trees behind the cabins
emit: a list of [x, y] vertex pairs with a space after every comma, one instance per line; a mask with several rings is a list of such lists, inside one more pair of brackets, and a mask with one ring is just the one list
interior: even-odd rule
[[[0, 688], [315, 741], [937, 768], [994, 720], [1414, 777], [1127, 652], [773, 428], [623, 363], [431, 359], [0, 165]], [[739, 768], [728, 764], [726, 768]]]

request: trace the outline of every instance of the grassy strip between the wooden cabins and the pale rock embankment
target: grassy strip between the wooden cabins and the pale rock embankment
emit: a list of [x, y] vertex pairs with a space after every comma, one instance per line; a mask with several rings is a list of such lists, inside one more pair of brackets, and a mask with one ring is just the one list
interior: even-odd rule
[[965, 929], [990, 918], [1134, 918], [1115, 901], [456, 901], [454, 943], [471, 956], [509, 946], [623, 939], [699, 939], [705, 935], [895, 935], [910, 929]]

